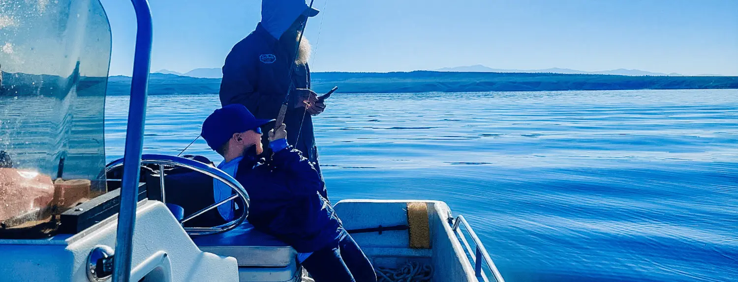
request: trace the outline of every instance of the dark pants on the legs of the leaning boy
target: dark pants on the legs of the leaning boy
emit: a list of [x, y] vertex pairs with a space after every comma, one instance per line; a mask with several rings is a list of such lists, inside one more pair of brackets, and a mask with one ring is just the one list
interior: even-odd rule
[[315, 282], [376, 282], [374, 268], [350, 235], [338, 247], [313, 252], [303, 267]]

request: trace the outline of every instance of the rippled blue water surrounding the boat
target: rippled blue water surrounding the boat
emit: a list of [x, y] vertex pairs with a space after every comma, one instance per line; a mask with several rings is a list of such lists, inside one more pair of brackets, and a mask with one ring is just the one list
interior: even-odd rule
[[[738, 90], [336, 94], [317, 117], [332, 200], [443, 200], [507, 281], [738, 281]], [[216, 95], [152, 96], [174, 154]], [[106, 106], [123, 154], [126, 97]], [[199, 140], [187, 150], [220, 161]]]

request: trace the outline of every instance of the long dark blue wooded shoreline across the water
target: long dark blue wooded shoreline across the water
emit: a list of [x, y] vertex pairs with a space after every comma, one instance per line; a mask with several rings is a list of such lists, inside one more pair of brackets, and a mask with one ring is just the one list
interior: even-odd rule
[[[637, 89], [725, 89], [738, 88], [738, 77], [624, 76], [606, 74], [550, 74], [495, 72], [314, 72], [312, 89], [325, 93], [338, 85], [339, 93], [421, 93], [479, 91], [571, 91]], [[217, 94], [218, 78], [176, 74], [151, 74], [148, 93]], [[108, 79], [108, 95], [131, 93], [131, 77]]]

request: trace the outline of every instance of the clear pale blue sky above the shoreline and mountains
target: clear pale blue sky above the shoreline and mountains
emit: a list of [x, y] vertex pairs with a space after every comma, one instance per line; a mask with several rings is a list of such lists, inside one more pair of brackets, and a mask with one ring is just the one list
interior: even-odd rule
[[[260, 18], [258, 0], [150, 0], [152, 71], [222, 66]], [[102, 0], [111, 74], [131, 73], [130, 1]], [[638, 68], [738, 75], [736, 0], [316, 0], [313, 71]], [[318, 42], [319, 28], [320, 42]], [[317, 43], [317, 46], [316, 46]]]

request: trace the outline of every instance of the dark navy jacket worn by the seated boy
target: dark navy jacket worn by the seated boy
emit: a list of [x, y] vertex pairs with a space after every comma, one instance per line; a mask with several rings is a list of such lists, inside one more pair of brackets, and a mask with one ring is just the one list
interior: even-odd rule
[[300, 151], [287, 147], [266, 162], [245, 156], [235, 179], [249, 193], [249, 223], [299, 253], [337, 247], [345, 230], [323, 193], [323, 180]]

